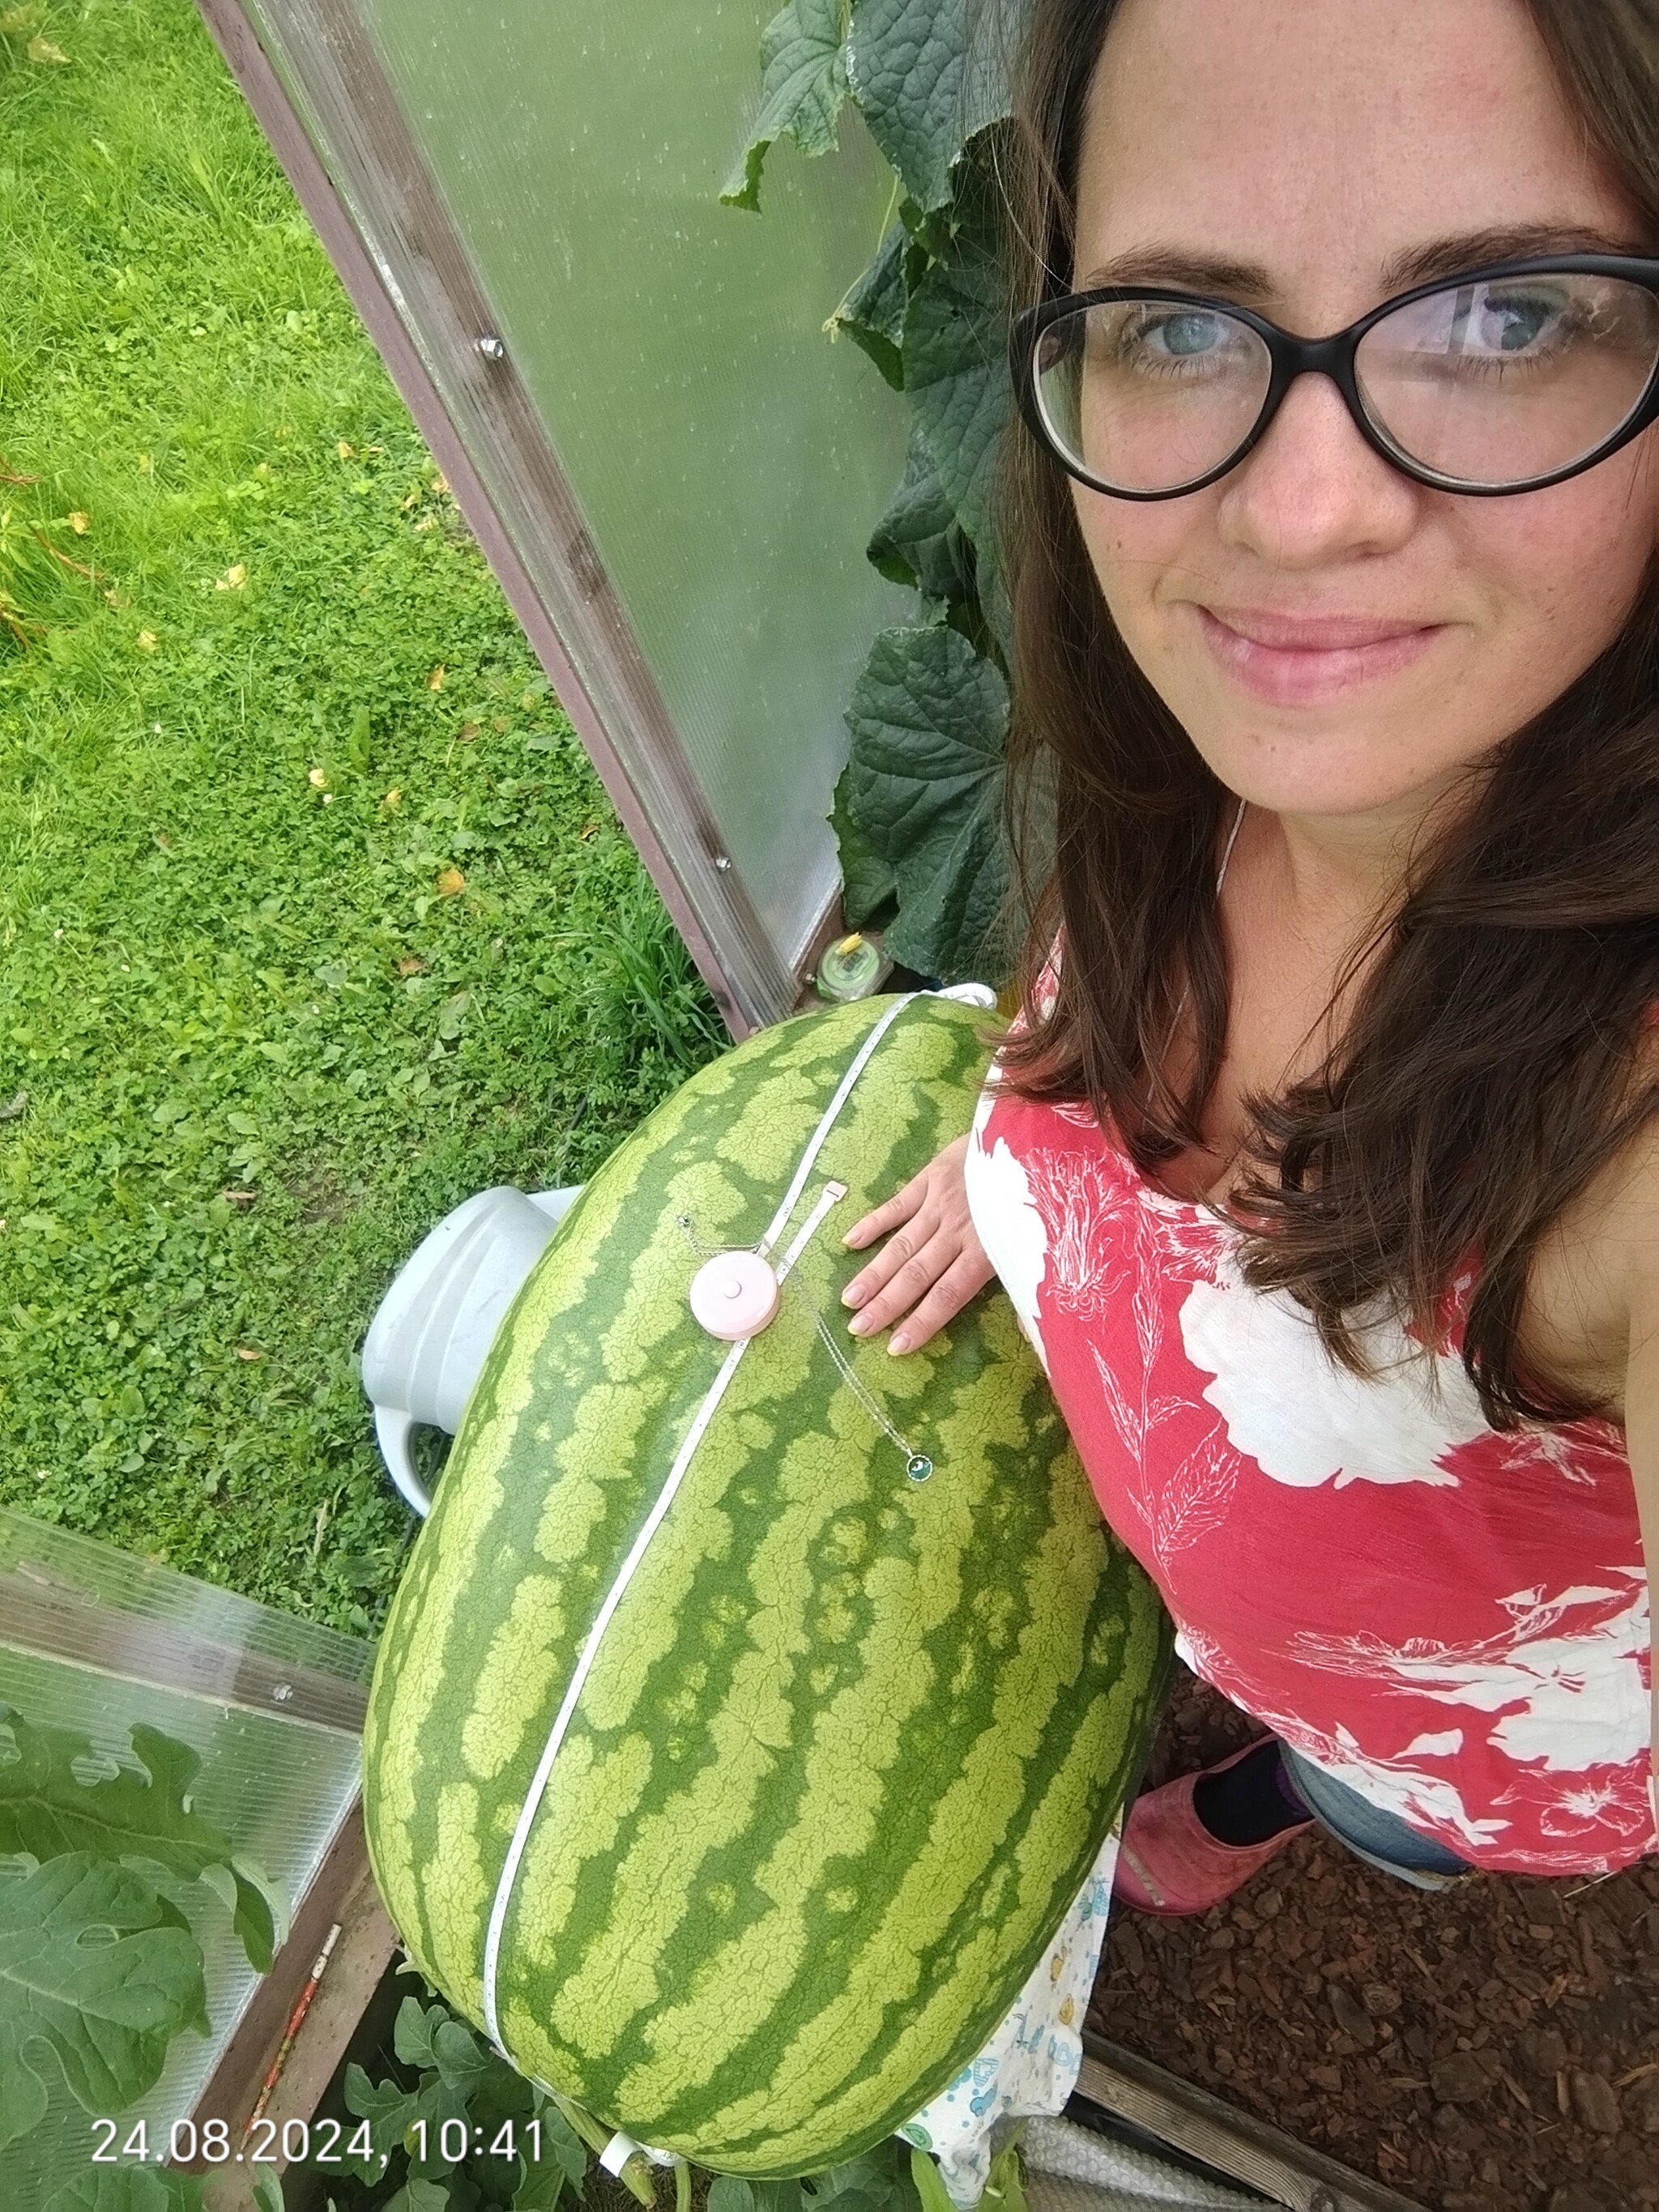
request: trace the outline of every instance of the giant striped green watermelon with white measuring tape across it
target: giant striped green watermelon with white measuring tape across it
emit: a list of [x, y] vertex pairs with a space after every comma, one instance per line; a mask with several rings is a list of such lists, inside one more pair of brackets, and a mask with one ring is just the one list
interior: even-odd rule
[[[785, 1022], [622, 1146], [491, 1349], [380, 1641], [365, 1816], [422, 1973], [732, 2174], [854, 2157], [978, 2051], [1161, 1690], [1161, 1608], [1006, 1298], [902, 1360], [845, 1334], [841, 1232], [969, 1126], [980, 1022]], [[692, 1239], [757, 1243], [796, 1183], [774, 1259], [818, 1225], [734, 1352], [690, 1318]]]

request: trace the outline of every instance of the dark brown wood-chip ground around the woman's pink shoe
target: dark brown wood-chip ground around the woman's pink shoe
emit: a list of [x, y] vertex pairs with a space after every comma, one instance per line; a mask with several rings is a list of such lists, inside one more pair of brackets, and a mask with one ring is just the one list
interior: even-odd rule
[[[1146, 1787], [1256, 1732], [1188, 1674]], [[1433, 1896], [1314, 1829], [1199, 1920], [1113, 1913], [1088, 2020], [1438, 2212], [1659, 2205], [1659, 1860]]]

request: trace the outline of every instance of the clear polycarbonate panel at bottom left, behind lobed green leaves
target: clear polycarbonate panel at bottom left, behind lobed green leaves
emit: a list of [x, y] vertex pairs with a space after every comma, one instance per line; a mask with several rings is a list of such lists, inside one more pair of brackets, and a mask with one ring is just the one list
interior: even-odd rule
[[[53, 1648], [42, 1652], [42, 1641]], [[192, 1807], [290, 1902], [305, 1893], [358, 1790], [356, 1730], [314, 1714], [338, 1705], [345, 1721], [361, 1710], [372, 1666], [372, 1646], [354, 1637], [0, 1511], [0, 1703], [38, 1728], [86, 1736], [104, 1765], [133, 1765], [137, 1721], [192, 1745], [201, 1754]], [[296, 1705], [312, 1717], [296, 1717]], [[119, 2115], [117, 2146], [142, 2124], [155, 2161], [206, 2086], [257, 1975], [206, 1885], [146, 1871], [201, 1944], [212, 2026], [206, 2039], [181, 2035], [155, 2088]], [[86, 2174], [88, 2154], [106, 2141], [55, 2066], [49, 2073], [44, 2121], [4, 2154], [7, 2205], [42, 2205]]]

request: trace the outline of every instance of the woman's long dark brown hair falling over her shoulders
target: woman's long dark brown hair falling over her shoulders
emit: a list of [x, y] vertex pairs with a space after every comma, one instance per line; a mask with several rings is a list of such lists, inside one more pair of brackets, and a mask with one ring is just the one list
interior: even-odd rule
[[[1084, 97], [1117, 7], [1033, 0], [1004, 179], [1015, 307], [1066, 281]], [[1588, 142], [1659, 239], [1659, 0], [1526, 7]], [[1015, 843], [1037, 812], [1053, 838], [1026, 1004], [1064, 933], [1057, 1004], [1009, 1048], [1009, 1075], [1026, 1097], [1091, 1099], [1155, 1172], [1201, 1141], [1225, 1051], [1214, 869], [1237, 801], [1130, 659], [1066, 478], [1022, 427], [1002, 542]], [[1234, 1197], [1245, 1276], [1292, 1292], [1365, 1371], [1360, 1316], [1394, 1314], [1433, 1343], [1475, 1259], [1462, 1358], [1486, 1418], [1586, 1411], [1522, 1371], [1515, 1336], [1540, 1239], [1659, 1113], [1637, 1060], [1659, 1004], [1659, 575], [1601, 659], [1500, 748], [1338, 995], [1367, 953], [1325, 1066], [1250, 1102], [1252, 1172]], [[1197, 1053], [1175, 1082], [1183, 1002]]]

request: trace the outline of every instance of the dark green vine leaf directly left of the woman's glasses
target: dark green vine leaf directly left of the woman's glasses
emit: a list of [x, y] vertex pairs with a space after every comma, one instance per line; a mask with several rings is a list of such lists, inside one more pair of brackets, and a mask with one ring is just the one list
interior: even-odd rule
[[938, 261], [911, 294], [905, 389], [958, 522], [975, 546], [989, 544], [1013, 383], [1002, 274], [978, 243]]

